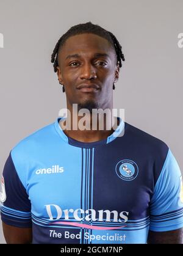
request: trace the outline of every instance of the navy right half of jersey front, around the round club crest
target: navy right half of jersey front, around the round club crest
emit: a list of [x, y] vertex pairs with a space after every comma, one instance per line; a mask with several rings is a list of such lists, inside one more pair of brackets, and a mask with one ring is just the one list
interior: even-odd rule
[[[127, 211], [130, 219], [146, 218], [167, 150], [159, 139], [126, 123], [124, 136], [106, 147], [95, 148], [93, 207]], [[117, 175], [120, 161], [136, 164], [138, 174], [134, 180]]]

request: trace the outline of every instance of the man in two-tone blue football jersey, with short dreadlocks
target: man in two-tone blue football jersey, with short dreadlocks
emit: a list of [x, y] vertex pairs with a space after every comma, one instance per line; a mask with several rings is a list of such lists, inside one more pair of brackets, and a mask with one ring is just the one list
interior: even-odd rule
[[117, 38], [90, 22], [57, 42], [51, 61], [72, 118], [11, 150], [1, 194], [7, 243], [182, 243], [181, 172], [170, 148], [115, 117], [116, 130], [107, 118], [110, 129], [74, 129], [81, 109], [90, 128], [93, 109], [112, 112], [121, 60]]

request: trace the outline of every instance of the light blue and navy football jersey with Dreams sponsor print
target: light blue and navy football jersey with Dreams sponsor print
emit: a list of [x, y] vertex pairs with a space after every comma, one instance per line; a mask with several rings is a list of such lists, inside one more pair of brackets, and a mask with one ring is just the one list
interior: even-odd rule
[[147, 243], [183, 227], [181, 171], [160, 139], [120, 121], [106, 139], [66, 136], [62, 117], [10, 150], [1, 218], [32, 227], [32, 243]]

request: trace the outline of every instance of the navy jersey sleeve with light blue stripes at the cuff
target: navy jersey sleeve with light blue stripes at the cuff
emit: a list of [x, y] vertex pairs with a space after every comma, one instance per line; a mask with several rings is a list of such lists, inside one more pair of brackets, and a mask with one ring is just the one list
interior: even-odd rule
[[1, 178], [1, 219], [7, 225], [32, 227], [31, 205], [10, 152]]

